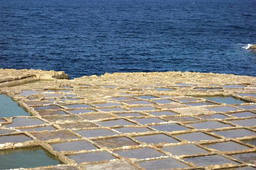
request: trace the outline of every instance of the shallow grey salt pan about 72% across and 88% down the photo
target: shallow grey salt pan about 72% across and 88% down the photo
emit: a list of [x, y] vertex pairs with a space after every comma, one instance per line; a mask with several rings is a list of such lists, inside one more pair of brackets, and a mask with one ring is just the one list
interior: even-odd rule
[[194, 144], [177, 145], [172, 147], [162, 147], [163, 151], [172, 153], [172, 155], [193, 155], [198, 153], [208, 153], [207, 150], [202, 149]]

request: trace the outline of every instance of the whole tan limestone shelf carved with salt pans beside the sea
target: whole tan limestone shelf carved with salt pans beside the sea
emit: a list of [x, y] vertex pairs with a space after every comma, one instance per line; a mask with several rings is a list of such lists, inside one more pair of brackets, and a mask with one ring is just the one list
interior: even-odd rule
[[0, 96], [0, 155], [33, 170], [256, 167], [256, 77], [0, 69]]

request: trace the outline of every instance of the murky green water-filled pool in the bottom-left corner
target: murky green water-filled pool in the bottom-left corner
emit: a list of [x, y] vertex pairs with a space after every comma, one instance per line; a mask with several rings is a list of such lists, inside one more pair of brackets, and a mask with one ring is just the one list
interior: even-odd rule
[[45, 167], [62, 164], [41, 147], [0, 151], [0, 169]]

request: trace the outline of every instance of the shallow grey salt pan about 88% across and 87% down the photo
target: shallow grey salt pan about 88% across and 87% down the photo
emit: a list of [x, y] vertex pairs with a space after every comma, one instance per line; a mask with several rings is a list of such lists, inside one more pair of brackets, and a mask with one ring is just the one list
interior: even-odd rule
[[225, 152], [250, 149], [250, 147], [232, 141], [203, 144], [202, 146]]

